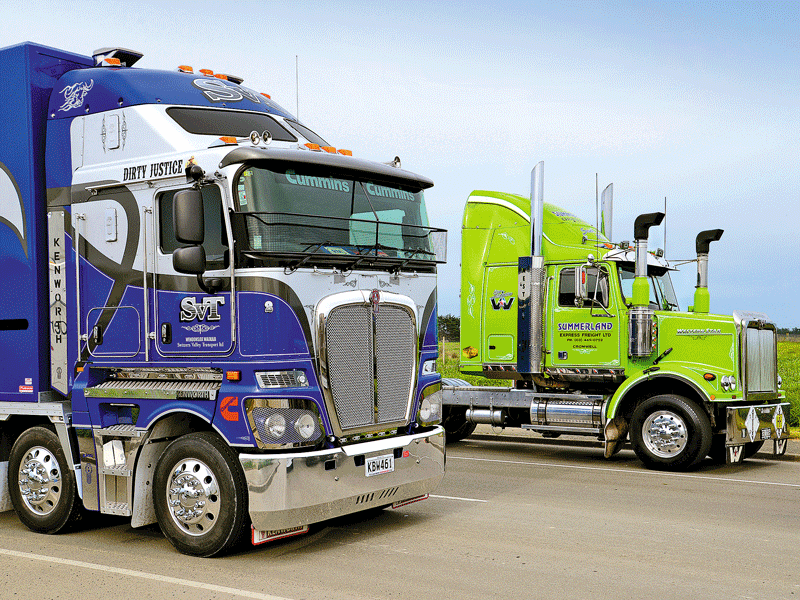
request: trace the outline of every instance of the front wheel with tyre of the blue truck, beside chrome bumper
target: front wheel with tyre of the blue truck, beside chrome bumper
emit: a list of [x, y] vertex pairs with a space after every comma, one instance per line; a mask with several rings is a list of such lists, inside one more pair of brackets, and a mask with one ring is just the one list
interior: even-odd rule
[[158, 525], [180, 552], [215, 556], [243, 539], [249, 523], [244, 473], [216, 435], [190, 433], [172, 442], [153, 482]]

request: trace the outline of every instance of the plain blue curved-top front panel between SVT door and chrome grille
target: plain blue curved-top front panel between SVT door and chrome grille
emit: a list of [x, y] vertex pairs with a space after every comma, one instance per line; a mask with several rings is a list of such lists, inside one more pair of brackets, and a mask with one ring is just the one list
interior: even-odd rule
[[278, 296], [240, 292], [239, 348], [243, 356], [308, 356], [303, 328], [292, 308]]

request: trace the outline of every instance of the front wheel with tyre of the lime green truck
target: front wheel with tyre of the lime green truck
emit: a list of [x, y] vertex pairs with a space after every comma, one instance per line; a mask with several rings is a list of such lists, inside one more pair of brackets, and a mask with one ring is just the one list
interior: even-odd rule
[[648, 398], [633, 411], [631, 444], [648, 469], [688, 471], [711, 449], [711, 422], [683, 396]]

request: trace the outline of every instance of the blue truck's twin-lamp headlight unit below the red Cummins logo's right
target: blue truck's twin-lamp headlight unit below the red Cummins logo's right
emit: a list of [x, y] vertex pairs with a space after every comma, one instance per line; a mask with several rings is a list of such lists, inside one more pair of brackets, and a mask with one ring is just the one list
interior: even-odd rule
[[259, 448], [315, 446], [324, 438], [317, 405], [306, 398], [246, 398], [245, 413]]

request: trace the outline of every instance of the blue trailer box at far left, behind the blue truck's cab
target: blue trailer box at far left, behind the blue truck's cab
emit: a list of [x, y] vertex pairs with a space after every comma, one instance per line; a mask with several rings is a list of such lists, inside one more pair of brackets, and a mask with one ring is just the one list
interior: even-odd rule
[[0, 96], [0, 177], [7, 192], [0, 201], [0, 272], [5, 278], [0, 319], [27, 321], [27, 328], [0, 335], [0, 400], [36, 400], [50, 386], [46, 109], [58, 77], [88, 60], [29, 43], [0, 50], [0, 72], [6, 82], [14, 82]]

